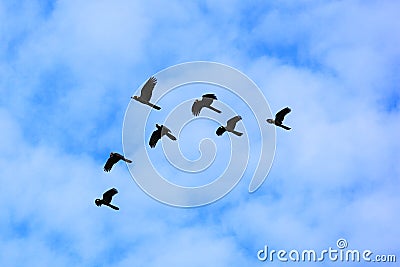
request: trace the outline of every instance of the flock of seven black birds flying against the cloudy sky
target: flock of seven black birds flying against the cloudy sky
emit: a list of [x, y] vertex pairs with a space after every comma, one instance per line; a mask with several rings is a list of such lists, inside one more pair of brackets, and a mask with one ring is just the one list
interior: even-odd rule
[[[151, 108], [160, 110], [161, 107], [150, 102], [150, 99], [152, 97], [153, 90], [154, 90], [154, 87], [156, 86], [156, 84], [157, 84], [157, 79], [155, 77], [150, 77], [147, 80], [147, 82], [144, 84], [144, 86], [142, 87], [142, 89], [140, 91], [140, 96], [132, 96], [131, 98], [142, 104], [148, 105]], [[192, 105], [192, 114], [194, 116], [199, 116], [200, 112], [203, 108], [208, 108], [216, 113], [221, 113], [220, 110], [211, 106], [212, 103], [214, 102], [214, 100], [217, 100], [217, 97], [215, 96], [215, 94], [204, 94], [202, 96], [201, 100], [196, 99]], [[276, 113], [274, 119], [267, 119], [267, 122], [270, 124], [274, 124], [278, 127], [281, 127], [285, 130], [290, 130], [291, 129], [290, 127], [283, 125], [283, 120], [290, 111], [291, 111], [291, 109], [288, 107], [283, 108], [282, 110], [280, 110], [279, 112]], [[216, 134], [218, 136], [221, 136], [223, 133], [229, 132], [229, 133], [235, 134], [237, 136], [242, 136], [243, 133], [235, 131], [236, 124], [241, 119], [242, 119], [241, 116], [235, 116], [235, 117], [229, 119], [226, 122], [226, 126], [221, 125], [220, 127], [218, 127]], [[173, 141], [177, 140], [176, 137], [171, 133], [171, 130], [168, 129], [165, 125], [156, 124], [156, 128], [157, 128], [157, 130], [155, 130], [151, 134], [151, 137], [149, 140], [149, 146], [151, 148], [154, 148], [156, 146], [158, 140], [160, 140], [163, 136], [167, 136], [168, 138], [170, 138]], [[120, 160], [125, 161], [127, 163], [132, 163], [132, 160], [125, 158], [123, 155], [121, 155], [119, 153], [111, 152], [110, 157], [107, 159], [107, 162], [104, 165], [104, 171], [110, 172], [112, 167], [114, 166], [114, 164], [116, 164]], [[112, 209], [119, 210], [118, 207], [111, 204], [113, 196], [117, 193], [118, 193], [117, 189], [111, 188], [103, 194], [102, 199], [97, 198], [95, 200], [95, 204], [99, 207], [101, 205], [106, 205]]]

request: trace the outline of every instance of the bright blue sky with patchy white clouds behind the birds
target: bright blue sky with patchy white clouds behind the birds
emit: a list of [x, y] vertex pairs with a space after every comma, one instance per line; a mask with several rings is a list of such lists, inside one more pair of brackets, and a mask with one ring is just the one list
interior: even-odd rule
[[[371, 250], [371, 259], [400, 261], [399, 12], [398, 1], [2, 0], [0, 265], [281, 266], [257, 252], [319, 253], [338, 249], [340, 238], [347, 249]], [[199, 60], [246, 74], [273, 113], [290, 106], [293, 129], [276, 130], [272, 168], [256, 192], [248, 193], [246, 170], [217, 202], [171, 207], [144, 193], [125, 163], [111, 173], [103, 165], [124, 150], [125, 113], [139, 105], [130, 102], [139, 86]], [[226, 94], [232, 112], [252, 118], [253, 107], [211, 85], [170, 92], [163, 111], [202, 90], [218, 93], [219, 105]], [[153, 113], [137, 125], [139, 142], [165, 119]], [[238, 126], [257, 147], [251, 119]], [[214, 140], [205, 172], [178, 171], [161, 146], [147, 149], [155, 168], [177, 183], [210, 182], [230, 163], [229, 138], [205, 130], [216, 127], [200, 118], [178, 141], [195, 160], [202, 138]], [[135, 168], [140, 159], [132, 160]], [[94, 205], [111, 187], [118, 212]]]

